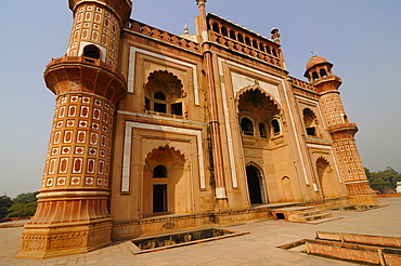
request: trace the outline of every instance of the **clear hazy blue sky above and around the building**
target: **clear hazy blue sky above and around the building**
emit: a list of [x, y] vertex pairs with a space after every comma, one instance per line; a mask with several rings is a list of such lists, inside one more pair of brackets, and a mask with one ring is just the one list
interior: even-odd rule
[[[269, 38], [277, 27], [296, 78], [311, 50], [333, 63], [364, 165], [401, 172], [400, 0], [208, 0], [206, 8]], [[195, 0], [134, 0], [131, 17], [180, 35], [185, 21], [194, 34], [197, 14]], [[72, 22], [67, 0], [1, 3], [0, 195], [40, 188], [55, 106], [42, 72], [66, 52]]]

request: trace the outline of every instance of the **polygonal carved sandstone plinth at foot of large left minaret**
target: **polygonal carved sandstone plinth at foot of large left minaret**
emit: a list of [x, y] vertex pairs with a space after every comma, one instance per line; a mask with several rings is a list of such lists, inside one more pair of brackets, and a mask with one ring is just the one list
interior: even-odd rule
[[26, 225], [23, 243], [16, 257], [46, 258], [86, 253], [111, 244], [111, 221], [63, 226]]

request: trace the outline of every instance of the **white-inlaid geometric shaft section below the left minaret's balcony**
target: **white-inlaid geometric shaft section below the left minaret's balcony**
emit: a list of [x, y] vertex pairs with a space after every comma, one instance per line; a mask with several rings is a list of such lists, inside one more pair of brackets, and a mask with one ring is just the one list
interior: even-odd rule
[[107, 187], [113, 115], [113, 104], [102, 97], [82, 93], [57, 97], [42, 189]]

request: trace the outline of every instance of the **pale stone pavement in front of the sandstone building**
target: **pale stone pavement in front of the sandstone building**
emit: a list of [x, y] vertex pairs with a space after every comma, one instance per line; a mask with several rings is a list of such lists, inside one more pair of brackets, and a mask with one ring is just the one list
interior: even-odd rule
[[116, 242], [86, 254], [46, 260], [15, 258], [24, 229], [0, 228], [0, 265], [355, 265], [276, 247], [303, 238], [313, 239], [316, 230], [401, 237], [401, 198], [380, 199], [380, 202], [389, 205], [364, 212], [335, 211], [333, 216], [344, 218], [319, 225], [266, 221], [225, 227], [250, 234], [140, 255], [131, 252], [131, 243]]

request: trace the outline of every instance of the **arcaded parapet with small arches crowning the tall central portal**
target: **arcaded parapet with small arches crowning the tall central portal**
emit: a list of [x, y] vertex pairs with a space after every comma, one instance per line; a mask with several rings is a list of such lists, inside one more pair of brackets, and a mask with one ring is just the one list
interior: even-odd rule
[[281, 68], [284, 67], [279, 43], [212, 13], [207, 15], [207, 23], [211, 42]]

